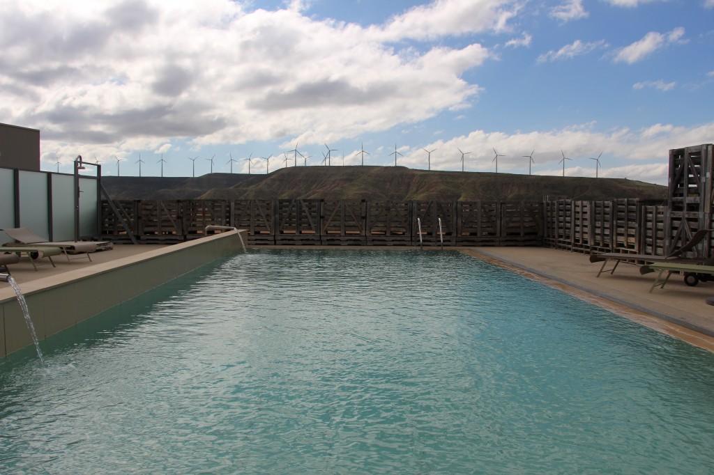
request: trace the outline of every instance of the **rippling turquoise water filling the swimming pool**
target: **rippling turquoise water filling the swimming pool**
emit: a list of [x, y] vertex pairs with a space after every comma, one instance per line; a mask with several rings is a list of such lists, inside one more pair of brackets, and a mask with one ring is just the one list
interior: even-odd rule
[[713, 354], [457, 252], [253, 251], [41, 346], [1, 473], [714, 471]]

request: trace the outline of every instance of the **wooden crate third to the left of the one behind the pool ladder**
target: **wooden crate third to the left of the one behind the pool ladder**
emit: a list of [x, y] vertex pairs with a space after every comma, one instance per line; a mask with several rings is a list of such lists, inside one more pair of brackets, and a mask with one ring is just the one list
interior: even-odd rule
[[320, 245], [321, 200], [277, 200], [278, 245]]

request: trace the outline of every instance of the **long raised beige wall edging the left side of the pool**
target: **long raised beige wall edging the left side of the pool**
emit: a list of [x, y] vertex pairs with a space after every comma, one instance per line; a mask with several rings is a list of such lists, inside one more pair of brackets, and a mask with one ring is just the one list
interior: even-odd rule
[[[37, 337], [46, 339], [198, 267], [235, 255], [245, 249], [246, 237], [246, 230], [233, 229], [24, 282], [21, 290]], [[3, 290], [0, 357], [32, 344], [14, 293]]]

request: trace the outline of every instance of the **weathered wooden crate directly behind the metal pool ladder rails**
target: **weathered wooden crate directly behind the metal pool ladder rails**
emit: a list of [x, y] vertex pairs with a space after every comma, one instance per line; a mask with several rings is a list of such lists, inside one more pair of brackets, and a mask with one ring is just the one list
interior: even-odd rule
[[[445, 246], [456, 245], [456, 202], [413, 201], [411, 213], [413, 245], [420, 244], [419, 220], [421, 220], [421, 242], [423, 245], [441, 245], [442, 239]], [[439, 219], [441, 219], [441, 231]]]

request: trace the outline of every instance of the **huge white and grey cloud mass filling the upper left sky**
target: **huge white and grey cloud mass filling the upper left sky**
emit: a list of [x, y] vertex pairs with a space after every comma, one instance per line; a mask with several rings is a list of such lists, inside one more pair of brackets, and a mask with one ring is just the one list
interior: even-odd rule
[[383, 131], [468, 107], [481, 88], [461, 74], [491, 55], [388, 42], [507, 31], [519, 4], [437, 0], [362, 27], [306, 16], [304, 1], [4, 0], [0, 114], [68, 156]]

